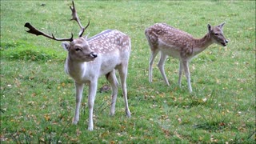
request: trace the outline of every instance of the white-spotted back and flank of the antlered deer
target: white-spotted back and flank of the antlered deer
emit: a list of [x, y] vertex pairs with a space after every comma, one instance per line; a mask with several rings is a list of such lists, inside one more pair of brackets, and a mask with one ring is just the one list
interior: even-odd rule
[[130, 38], [118, 30], [105, 30], [88, 39], [91, 50], [98, 53], [94, 63], [101, 63], [100, 74], [107, 74], [116, 66], [128, 64], [130, 57]]

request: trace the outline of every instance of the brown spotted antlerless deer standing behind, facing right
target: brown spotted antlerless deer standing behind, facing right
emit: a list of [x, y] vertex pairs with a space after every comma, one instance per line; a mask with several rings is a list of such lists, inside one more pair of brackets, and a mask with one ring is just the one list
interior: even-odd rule
[[181, 86], [182, 70], [184, 70], [188, 88], [191, 93], [192, 87], [190, 84], [189, 62], [195, 55], [206, 50], [206, 48], [213, 43], [226, 46], [228, 40], [224, 37], [222, 31], [224, 24], [225, 22], [218, 26], [210, 26], [210, 24], [208, 24], [208, 33], [200, 39], [193, 38], [192, 35], [182, 30], [175, 29], [172, 26], [168, 26], [165, 23], [156, 23], [147, 28], [145, 34], [151, 50], [149, 81], [152, 82], [152, 65], [154, 58], [160, 51], [161, 58], [158, 62], [158, 68], [166, 84], [170, 86], [166, 78], [164, 64], [167, 56], [172, 56], [173, 58], [179, 59], [178, 85]]

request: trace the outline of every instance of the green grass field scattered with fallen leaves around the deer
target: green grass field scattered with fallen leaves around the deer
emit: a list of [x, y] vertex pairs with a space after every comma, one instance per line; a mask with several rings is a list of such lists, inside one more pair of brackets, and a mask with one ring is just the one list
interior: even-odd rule
[[[45, 3], [46, 6], [40, 6]], [[94, 131], [87, 130], [88, 88], [81, 118], [74, 115], [74, 82], [63, 70], [66, 51], [60, 42], [25, 32], [30, 22], [57, 38], [78, 34], [70, 22], [70, 1], [1, 1], [1, 143], [254, 143], [255, 2], [254, 1], [78, 1], [90, 36], [106, 29], [130, 35], [127, 78], [131, 118], [125, 116], [119, 90], [116, 114], [109, 115], [110, 91], [98, 93]], [[150, 49], [144, 35], [155, 22], [185, 30], [196, 38], [207, 23], [226, 22], [226, 49], [212, 45], [190, 62], [178, 86], [178, 60], [168, 58], [166, 86], [154, 62], [148, 82]], [[158, 58], [156, 58], [158, 59]], [[98, 89], [106, 84], [100, 78]]]

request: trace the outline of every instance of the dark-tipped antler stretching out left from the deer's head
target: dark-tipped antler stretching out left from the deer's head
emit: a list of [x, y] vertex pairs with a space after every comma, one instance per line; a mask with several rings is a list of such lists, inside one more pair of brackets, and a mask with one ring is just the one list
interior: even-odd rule
[[45, 36], [46, 38], [50, 38], [50, 39], [54, 39], [55, 41], [73, 41], [73, 34], [71, 33], [71, 38], [55, 38], [54, 34], [52, 34], [51, 36], [49, 34], [46, 34], [38, 29], [36, 29], [34, 26], [30, 25], [29, 22], [26, 22], [25, 27], [29, 28], [30, 30], [26, 30], [26, 32], [30, 33], [30, 34], [35, 34], [35, 35], [42, 35]]

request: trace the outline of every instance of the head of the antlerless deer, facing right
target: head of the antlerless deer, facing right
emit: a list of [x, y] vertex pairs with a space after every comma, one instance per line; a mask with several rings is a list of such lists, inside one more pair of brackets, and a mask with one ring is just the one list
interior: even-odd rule
[[224, 26], [224, 24], [225, 22], [218, 26], [210, 26], [210, 24], [208, 24], [208, 32], [210, 34], [210, 38], [213, 39], [214, 43], [217, 43], [221, 46], [226, 46], [229, 42], [223, 34], [222, 27]]

